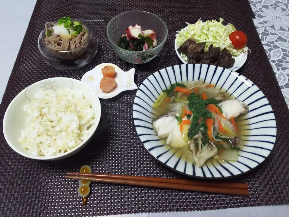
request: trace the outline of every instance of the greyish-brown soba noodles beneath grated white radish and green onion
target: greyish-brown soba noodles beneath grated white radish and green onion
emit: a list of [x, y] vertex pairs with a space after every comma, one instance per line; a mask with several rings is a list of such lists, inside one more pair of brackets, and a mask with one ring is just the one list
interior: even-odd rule
[[[51, 36], [45, 35], [45, 45], [52, 49], [55, 55], [62, 56], [66, 58], [75, 58], [81, 55], [87, 46], [88, 41], [88, 31], [87, 28], [81, 24], [82, 29], [85, 31], [81, 31], [76, 37], [73, 39], [65, 39], [62, 38], [59, 35], [56, 35], [52, 29], [54, 25], [57, 25], [57, 23], [51, 23], [47, 22], [45, 23], [45, 34], [47, 32], [51, 32]], [[49, 31], [50, 30], [50, 31]], [[57, 52], [60, 51], [60, 52]], [[61, 51], [67, 51], [67, 52], [61, 52]]]

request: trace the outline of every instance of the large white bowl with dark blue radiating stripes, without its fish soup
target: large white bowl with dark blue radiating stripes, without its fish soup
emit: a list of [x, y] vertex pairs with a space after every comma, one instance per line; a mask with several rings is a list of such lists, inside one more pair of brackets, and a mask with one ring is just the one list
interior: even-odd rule
[[[163, 90], [176, 82], [200, 79], [215, 84], [249, 106], [250, 112], [242, 117], [246, 127], [241, 138], [246, 142], [238, 151], [238, 162], [219, 161], [198, 168], [169, 151], [153, 130], [152, 118], [158, 114], [152, 105]], [[175, 65], [151, 74], [135, 94], [133, 120], [141, 143], [155, 159], [177, 172], [198, 178], [228, 178], [244, 174], [269, 156], [276, 140], [275, 116], [262, 91], [235, 71], [206, 64]]]

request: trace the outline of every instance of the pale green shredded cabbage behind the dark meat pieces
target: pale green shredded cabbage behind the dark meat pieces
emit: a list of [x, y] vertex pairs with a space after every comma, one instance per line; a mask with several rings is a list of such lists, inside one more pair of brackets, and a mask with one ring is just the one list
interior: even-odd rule
[[[224, 19], [219, 19], [220, 22], [216, 20], [207, 20], [206, 22], [202, 22], [201, 19], [199, 19], [196, 24], [189, 24], [186, 22], [188, 26], [181, 31], [177, 31], [177, 45], [181, 46], [185, 40], [193, 38], [197, 43], [206, 42], [205, 51], [208, 50], [211, 44], [213, 44], [213, 47], [219, 47], [221, 49], [226, 48], [233, 56], [238, 56], [247, 51], [247, 46], [238, 50], [234, 49], [234, 46], [229, 39], [229, 35], [236, 31], [236, 28], [230, 23], [224, 26], [222, 24]], [[181, 54], [181, 56], [185, 61], [188, 61], [186, 55]]]

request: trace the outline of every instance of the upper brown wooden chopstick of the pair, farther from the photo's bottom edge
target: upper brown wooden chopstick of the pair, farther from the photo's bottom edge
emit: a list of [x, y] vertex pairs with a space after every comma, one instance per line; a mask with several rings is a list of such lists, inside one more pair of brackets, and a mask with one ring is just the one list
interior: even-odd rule
[[66, 175], [74, 176], [85, 176], [85, 177], [98, 177], [98, 178], [113, 178], [113, 179], [125, 179], [135, 181], [151, 181], [171, 184], [187, 184], [187, 185], [198, 185], [198, 186], [209, 186], [209, 187], [224, 187], [234, 189], [248, 189], [247, 183], [232, 183], [232, 182], [207, 182], [207, 181], [193, 181], [187, 179], [177, 178], [159, 178], [149, 176], [127, 176], [127, 175], [111, 175], [111, 174], [98, 174], [98, 173], [75, 173], [67, 172]]

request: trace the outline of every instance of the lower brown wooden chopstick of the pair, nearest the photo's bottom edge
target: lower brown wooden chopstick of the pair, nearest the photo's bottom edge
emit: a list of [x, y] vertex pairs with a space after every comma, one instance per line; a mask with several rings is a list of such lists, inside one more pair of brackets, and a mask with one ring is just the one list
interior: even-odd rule
[[[67, 173], [67, 174], [70, 174], [70, 173]], [[77, 174], [79, 175], [80, 173], [77, 173]], [[92, 175], [92, 174], [89, 174], [89, 175]], [[137, 185], [137, 186], [145, 186], [145, 187], [190, 190], [190, 191], [209, 192], [209, 193], [222, 193], [222, 194], [232, 194], [232, 195], [242, 195], [242, 196], [249, 195], [248, 189], [245, 190], [245, 189], [238, 189], [238, 188], [199, 186], [199, 185], [189, 185], [189, 184], [180, 184], [180, 183], [163, 183], [163, 182], [115, 179], [115, 178], [80, 177], [80, 176], [68, 176], [68, 175], [66, 175], [65, 178], [98, 181], [98, 182], [114, 183], [114, 184], [129, 184], [129, 185]]]

